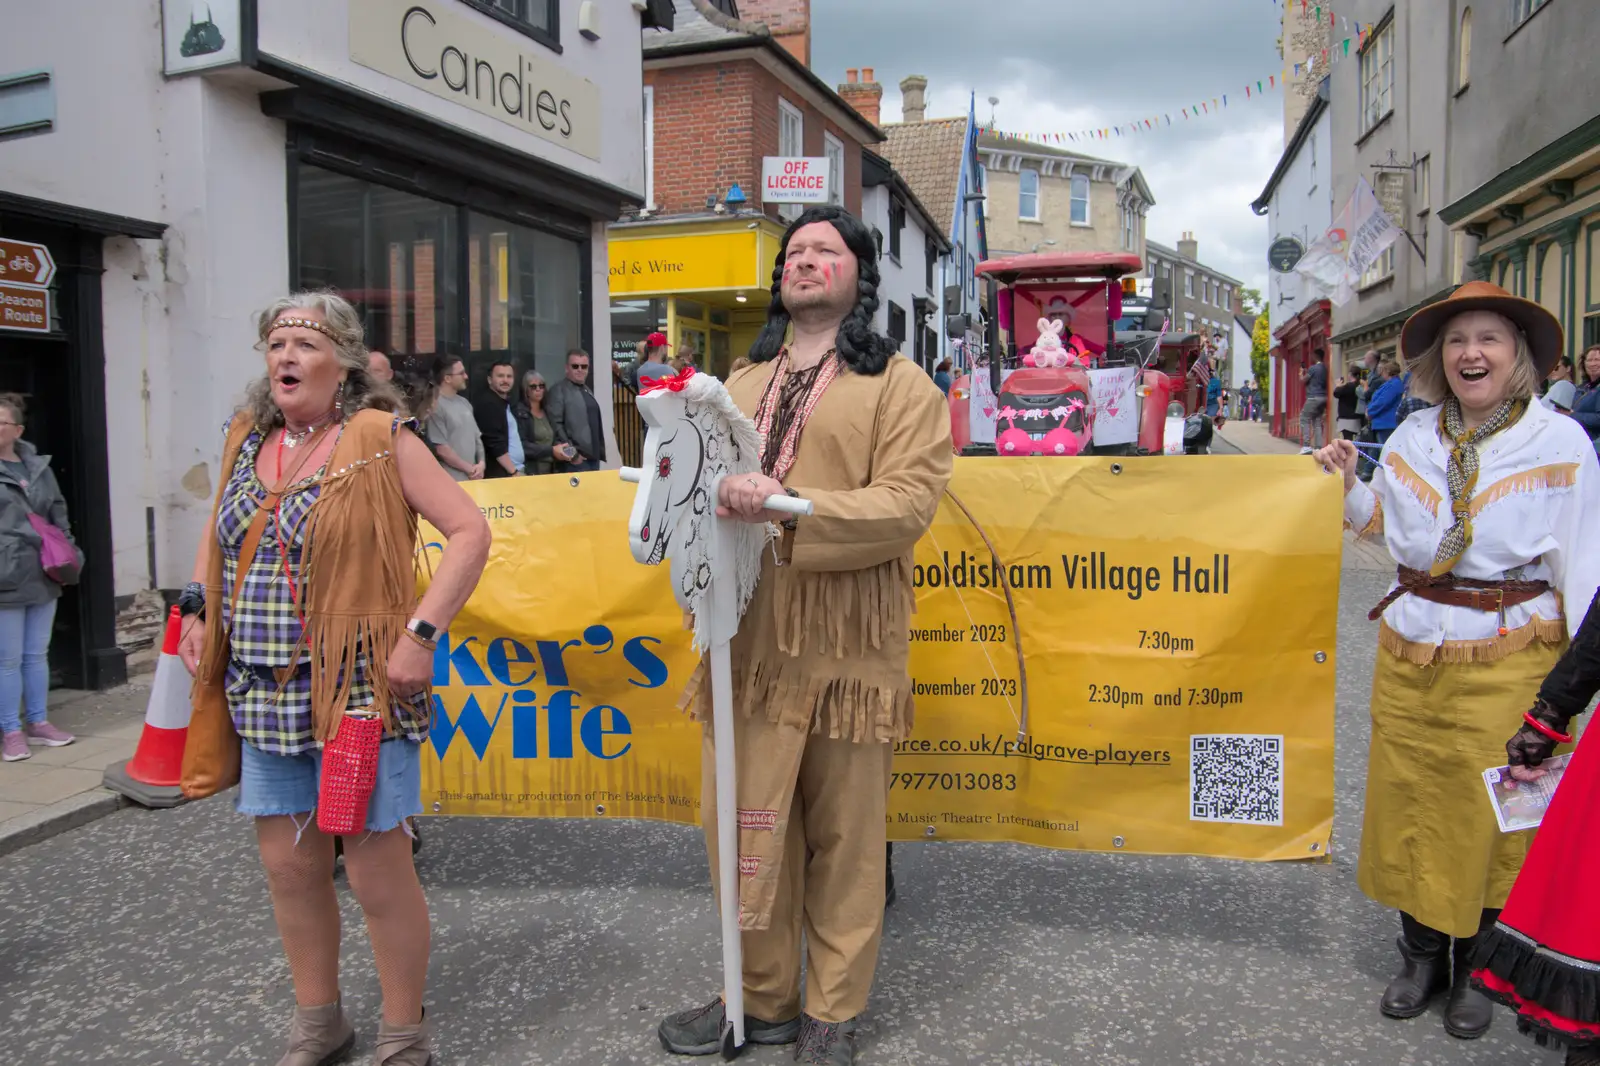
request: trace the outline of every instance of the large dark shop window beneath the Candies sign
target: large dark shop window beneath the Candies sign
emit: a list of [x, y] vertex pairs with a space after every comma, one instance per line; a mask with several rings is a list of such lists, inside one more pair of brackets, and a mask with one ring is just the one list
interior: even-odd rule
[[582, 245], [317, 166], [296, 166], [294, 283], [362, 312], [366, 343], [426, 370], [458, 354], [560, 378], [584, 339]]

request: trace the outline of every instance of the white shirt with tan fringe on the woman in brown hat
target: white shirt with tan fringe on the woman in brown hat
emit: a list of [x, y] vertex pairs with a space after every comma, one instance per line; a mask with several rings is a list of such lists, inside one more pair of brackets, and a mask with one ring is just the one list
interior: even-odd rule
[[[1416, 411], [1384, 445], [1371, 485], [1344, 496], [1344, 519], [1379, 536], [1402, 567], [1427, 570], [1450, 528], [1440, 408]], [[1389, 605], [1379, 643], [1427, 664], [1493, 661], [1534, 640], [1578, 631], [1600, 586], [1600, 463], [1571, 418], [1530, 403], [1515, 426], [1478, 447], [1472, 544], [1453, 567], [1478, 581], [1547, 581], [1550, 592], [1506, 608], [1506, 635], [1491, 611], [1446, 607], [1418, 595]], [[1565, 610], [1563, 610], [1565, 608]]]

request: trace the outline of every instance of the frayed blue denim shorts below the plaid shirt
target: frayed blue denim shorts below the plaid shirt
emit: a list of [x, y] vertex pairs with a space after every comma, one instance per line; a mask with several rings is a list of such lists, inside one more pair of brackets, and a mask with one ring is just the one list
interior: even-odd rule
[[[240, 741], [238, 797], [234, 810], [266, 818], [307, 815], [317, 810], [322, 779], [322, 749], [298, 755], [269, 755], [250, 741]], [[378, 746], [378, 784], [366, 804], [366, 829], [387, 832], [406, 818], [422, 813], [422, 744], [392, 736]]]

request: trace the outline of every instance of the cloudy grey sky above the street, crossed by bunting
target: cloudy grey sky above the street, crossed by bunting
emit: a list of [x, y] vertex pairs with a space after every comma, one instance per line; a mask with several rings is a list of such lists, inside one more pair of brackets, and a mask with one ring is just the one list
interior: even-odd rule
[[[1250, 202], [1283, 152], [1283, 93], [1243, 88], [1280, 70], [1280, 18], [1274, 0], [811, 0], [811, 69], [837, 85], [874, 67], [883, 122], [899, 120], [910, 74], [928, 78], [930, 118], [965, 115], [976, 91], [979, 122], [992, 112], [1008, 131], [1173, 112], [1171, 128], [1067, 147], [1138, 165], [1155, 194], [1149, 238], [1194, 230], [1202, 262], [1266, 291], [1267, 226]], [[1178, 117], [1222, 93], [1221, 115]]]

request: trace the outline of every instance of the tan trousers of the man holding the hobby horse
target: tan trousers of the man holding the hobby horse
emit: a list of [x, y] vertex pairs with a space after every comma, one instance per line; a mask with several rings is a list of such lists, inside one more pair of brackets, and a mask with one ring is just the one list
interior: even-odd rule
[[[883, 938], [894, 746], [800, 733], [762, 714], [741, 715], [734, 728], [739, 792], [773, 795], [787, 821], [781, 868], [773, 871], [771, 924], [744, 932], [744, 1013], [762, 1021], [800, 1013], [803, 932], [805, 1012], [818, 1021], [846, 1021], [867, 1007]], [[701, 765], [701, 821], [715, 890], [717, 760], [709, 725]]]

